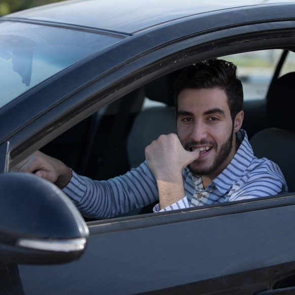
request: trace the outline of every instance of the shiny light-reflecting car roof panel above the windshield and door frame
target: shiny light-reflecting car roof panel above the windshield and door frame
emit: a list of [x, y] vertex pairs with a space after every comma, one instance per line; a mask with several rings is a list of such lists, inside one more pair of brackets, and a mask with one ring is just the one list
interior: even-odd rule
[[[70, 0], [10, 14], [6, 17], [70, 24], [134, 34], [173, 20], [193, 15], [247, 6], [267, 6], [295, 0]], [[5, 17], [4, 17], [5, 19]]]

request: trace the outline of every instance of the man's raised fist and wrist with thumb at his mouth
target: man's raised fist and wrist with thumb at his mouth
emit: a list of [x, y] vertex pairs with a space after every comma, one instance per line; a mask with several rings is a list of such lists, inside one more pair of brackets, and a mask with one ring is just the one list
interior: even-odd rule
[[145, 159], [158, 184], [160, 208], [165, 208], [183, 197], [182, 170], [200, 156], [183, 149], [176, 134], [161, 135], [145, 148]]

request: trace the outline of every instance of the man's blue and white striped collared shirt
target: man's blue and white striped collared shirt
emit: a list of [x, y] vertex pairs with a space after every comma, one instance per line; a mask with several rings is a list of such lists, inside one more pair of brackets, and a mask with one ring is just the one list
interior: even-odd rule
[[[188, 168], [182, 171], [186, 196], [162, 210], [154, 212], [218, 204], [276, 195], [287, 189], [277, 164], [254, 157], [246, 132], [237, 133], [239, 149], [230, 164], [204, 189], [202, 178], [194, 177]], [[141, 208], [159, 199], [156, 179], [143, 162], [138, 168], [109, 180], [92, 180], [73, 176], [63, 191], [88, 217], [104, 218]]]

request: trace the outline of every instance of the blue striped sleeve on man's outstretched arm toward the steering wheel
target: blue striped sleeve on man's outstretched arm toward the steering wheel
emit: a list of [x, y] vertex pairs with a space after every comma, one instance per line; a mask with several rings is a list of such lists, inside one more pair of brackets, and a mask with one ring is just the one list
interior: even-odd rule
[[73, 172], [63, 192], [84, 216], [92, 218], [114, 217], [158, 200], [157, 182], [146, 162], [124, 175], [101, 181]]

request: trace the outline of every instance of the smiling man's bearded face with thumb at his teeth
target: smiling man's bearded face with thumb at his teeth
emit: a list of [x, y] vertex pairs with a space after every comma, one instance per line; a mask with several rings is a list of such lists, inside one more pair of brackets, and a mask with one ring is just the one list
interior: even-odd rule
[[179, 93], [179, 140], [187, 151], [200, 149], [199, 159], [189, 165], [193, 175], [213, 179], [226, 168], [236, 152], [235, 133], [242, 119], [233, 124], [228, 98], [220, 88], [185, 89]]

